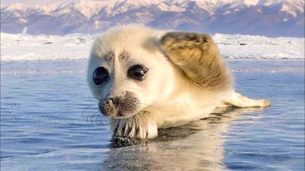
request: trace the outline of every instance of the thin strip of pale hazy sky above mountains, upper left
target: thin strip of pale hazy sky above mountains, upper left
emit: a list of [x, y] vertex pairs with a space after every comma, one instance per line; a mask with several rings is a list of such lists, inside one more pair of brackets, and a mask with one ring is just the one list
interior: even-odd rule
[[[1, 0], [2, 5], [9, 5], [12, 3], [23, 3], [28, 6], [35, 6], [35, 5], [45, 5], [45, 4], [52, 4], [56, 2], [77, 2], [79, 0]], [[105, 1], [105, 0], [91, 0], [91, 1]]]

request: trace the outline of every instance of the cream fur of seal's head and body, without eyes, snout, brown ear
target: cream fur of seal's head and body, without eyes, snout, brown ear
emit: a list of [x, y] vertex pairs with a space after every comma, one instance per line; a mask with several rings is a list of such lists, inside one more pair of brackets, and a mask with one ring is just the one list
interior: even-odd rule
[[[206, 117], [223, 101], [234, 105], [236, 98], [239, 99], [231, 95], [233, 90], [211, 93], [190, 83], [160, 49], [158, 41], [166, 32], [136, 24], [116, 26], [98, 37], [92, 46], [88, 84], [94, 97], [107, 99], [108, 94], [115, 96], [131, 91], [141, 102], [136, 115], [111, 122], [111, 129], [118, 128], [119, 136], [154, 138], [158, 128]], [[118, 55], [122, 51], [130, 55], [128, 60], [119, 61]], [[109, 52], [114, 54], [114, 60], [110, 62], [105, 59]], [[140, 83], [126, 79], [127, 69], [139, 63], [149, 68], [147, 78]], [[96, 86], [92, 79], [99, 66], [105, 67], [112, 76], [102, 87]], [[126, 135], [127, 128], [131, 128], [129, 135]]]

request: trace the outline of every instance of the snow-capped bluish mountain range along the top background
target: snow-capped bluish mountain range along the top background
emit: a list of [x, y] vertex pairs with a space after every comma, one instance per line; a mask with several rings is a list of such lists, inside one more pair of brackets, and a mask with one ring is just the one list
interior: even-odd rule
[[[1, 32], [98, 33], [116, 24], [154, 28], [304, 37], [304, 0], [124, 0], [1, 5]], [[26, 29], [25, 29], [26, 28]]]

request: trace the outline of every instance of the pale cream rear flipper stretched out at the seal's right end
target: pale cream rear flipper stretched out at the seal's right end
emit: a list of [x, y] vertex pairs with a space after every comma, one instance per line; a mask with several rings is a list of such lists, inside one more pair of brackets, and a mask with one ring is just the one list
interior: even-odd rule
[[218, 107], [223, 108], [232, 105], [240, 108], [267, 107], [271, 105], [271, 102], [267, 99], [259, 99], [259, 100], [250, 99], [239, 93], [233, 92], [231, 96], [226, 101], [224, 101], [224, 104]]

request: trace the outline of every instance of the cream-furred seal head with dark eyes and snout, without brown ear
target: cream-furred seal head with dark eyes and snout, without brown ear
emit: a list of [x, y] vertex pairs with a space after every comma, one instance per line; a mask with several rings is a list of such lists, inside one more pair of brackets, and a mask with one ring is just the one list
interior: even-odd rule
[[95, 40], [87, 78], [103, 115], [129, 118], [170, 94], [174, 71], [159, 48], [163, 34], [133, 24], [113, 27]]

